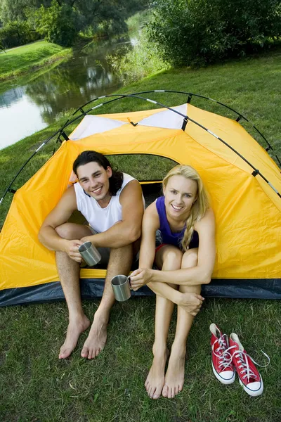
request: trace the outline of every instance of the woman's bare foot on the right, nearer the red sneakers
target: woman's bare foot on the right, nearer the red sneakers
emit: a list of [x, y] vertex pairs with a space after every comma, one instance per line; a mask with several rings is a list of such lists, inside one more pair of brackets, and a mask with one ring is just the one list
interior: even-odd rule
[[165, 375], [162, 396], [173, 399], [181, 390], [183, 390], [185, 373], [185, 346], [171, 348], [168, 369]]

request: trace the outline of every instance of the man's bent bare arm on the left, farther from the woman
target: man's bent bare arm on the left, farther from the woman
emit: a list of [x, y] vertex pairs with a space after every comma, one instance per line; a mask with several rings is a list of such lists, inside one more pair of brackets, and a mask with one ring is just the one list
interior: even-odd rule
[[74, 186], [71, 186], [41, 225], [38, 238], [46, 248], [65, 251], [65, 245], [69, 241], [61, 238], [55, 228], [67, 222], [74, 210], [77, 210], [77, 201]]

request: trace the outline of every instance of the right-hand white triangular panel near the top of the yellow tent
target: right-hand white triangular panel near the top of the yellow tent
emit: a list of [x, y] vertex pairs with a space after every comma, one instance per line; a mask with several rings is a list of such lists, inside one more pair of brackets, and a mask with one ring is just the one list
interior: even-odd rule
[[[187, 115], [188, 113], [188, 104], [171, 108], [183, 115]], [[138, 122], [138, 124], [141, 124], [142, 126], [162, 127], [163, 129], [181, 129], [183, 126], [183, 116], [178, 115], [171, 110], [164, 110], [155, 113], [150, 117], [145, 117], [145, 119]]]

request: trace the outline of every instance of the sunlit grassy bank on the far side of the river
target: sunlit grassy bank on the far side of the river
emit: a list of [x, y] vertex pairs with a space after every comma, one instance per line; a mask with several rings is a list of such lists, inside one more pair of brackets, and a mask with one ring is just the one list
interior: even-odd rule
[[65, 49], [47, 41], [36, 41], [3, 51], [0, 54], [0, 82], [34, 72], [71, 55], [72, 49]]

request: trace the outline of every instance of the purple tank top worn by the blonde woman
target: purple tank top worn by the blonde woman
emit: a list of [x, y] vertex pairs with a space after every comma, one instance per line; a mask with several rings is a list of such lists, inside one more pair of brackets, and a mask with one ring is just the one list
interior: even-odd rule
[[[166, 217], [166, 208], [164, 203], [164, 196], [159, 196], [156, 200], [156, 208], [159, 215], [160, 227], [159, 231], [161, 232], [162, 236], [162, 243], [166, 243], [167, 245], [174, 245], [178, 248], [181, 248], [181, 241], [183, 240], [183, 235], [185, 232], [185, 226], [180, 233], [172, 233], [171, 228], [169, 226], [169, 222]], [[189, 248], [198, 248], [199, 245], [199, 237], [197, 231], [193, 231], [191, 241], [189, 244]]]

